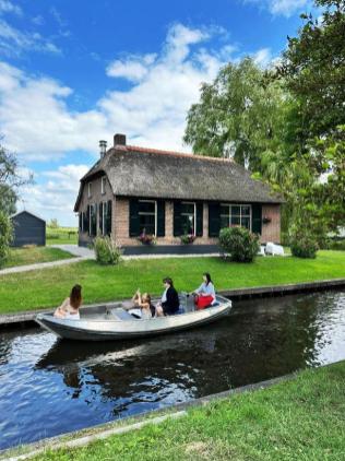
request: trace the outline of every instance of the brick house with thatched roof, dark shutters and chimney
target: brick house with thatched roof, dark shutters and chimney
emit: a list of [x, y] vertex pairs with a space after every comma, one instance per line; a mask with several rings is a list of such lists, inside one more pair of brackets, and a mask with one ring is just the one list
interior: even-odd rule
[[[110, 235], [126, 253], [214, 251], [229, 225], [279, 243], [282, 198], [234, 161], [127, 145], [123, 134], [108, 151], [99, 145], [74, 206], [80, 245]], [[144, 229], [156, 236], [150, 249], [138, 238]], [[193, 245], [181, 245], [185, 234]]]

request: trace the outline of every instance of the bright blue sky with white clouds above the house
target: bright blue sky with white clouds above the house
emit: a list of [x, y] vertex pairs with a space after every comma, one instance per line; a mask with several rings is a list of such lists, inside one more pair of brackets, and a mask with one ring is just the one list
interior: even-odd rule
[[17, 211], [76, 225], [80, 178], [115, 133], [190, 152], [202, 82], [252, 56], [270, 66], [309, 0], [0, 0], [0, 135], [23, 176]]

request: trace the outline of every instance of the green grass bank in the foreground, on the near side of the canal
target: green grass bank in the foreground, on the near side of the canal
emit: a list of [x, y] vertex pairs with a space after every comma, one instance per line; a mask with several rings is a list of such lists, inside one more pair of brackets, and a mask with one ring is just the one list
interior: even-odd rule
[[35, 460], [344, 460], [344, 382], [343, 362], [194, 407], [179, 419], [46, 451]]

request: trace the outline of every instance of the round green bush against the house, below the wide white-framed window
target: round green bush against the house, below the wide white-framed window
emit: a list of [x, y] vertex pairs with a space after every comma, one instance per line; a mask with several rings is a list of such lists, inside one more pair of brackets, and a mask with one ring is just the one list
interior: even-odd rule
[[252, 262], [260, 249], [259, 237], [245, 227], [225, 227], [219, 233], [219, 245], [231, 261]]

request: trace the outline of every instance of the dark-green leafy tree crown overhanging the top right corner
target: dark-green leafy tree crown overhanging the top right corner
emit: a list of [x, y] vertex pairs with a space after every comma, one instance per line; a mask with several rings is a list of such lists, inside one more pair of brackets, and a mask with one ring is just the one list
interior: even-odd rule
[[277, 69], [297, 99], [308, 139], [324, 137], [345, 116], [345, 1], [316, 0], [322, 20], [302, 14], [306, 24], [288, 47]]

